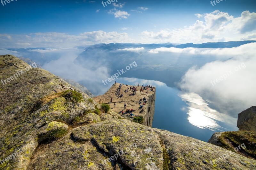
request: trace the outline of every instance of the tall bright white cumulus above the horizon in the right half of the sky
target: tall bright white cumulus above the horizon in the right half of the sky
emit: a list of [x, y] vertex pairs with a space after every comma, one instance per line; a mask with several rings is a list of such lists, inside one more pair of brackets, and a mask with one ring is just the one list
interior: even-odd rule
[[[204, 43], [209, 41], [220, 42], [255, 39], [255, 12], [250, 13], [249, 11], [244, 11], [237, 18], [218, 10], [211, 13], [195, 15], [198, 18], [203, 18], [204, 21], [197, 20], [193, 25], [172, 30], [144, 31], [141, 33], [140, 42]], [[248, 34], [251, 34], [251, 36], [248, 36]]]

